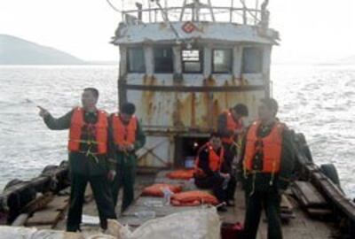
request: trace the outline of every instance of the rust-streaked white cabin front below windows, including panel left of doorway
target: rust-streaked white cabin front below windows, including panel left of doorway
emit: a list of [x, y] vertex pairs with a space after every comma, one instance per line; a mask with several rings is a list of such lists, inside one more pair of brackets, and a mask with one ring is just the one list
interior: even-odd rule
[[[256, 105], [266, 91], [263, 75], [253, 77], [216, 74], [203, 79], [202, 74], [184, 74], [176, 81], [172, 74], [123, 76], [119, 81], [120, 103], [137, 105], [136, 114], [148, 136], [138, 165], [171, 166], [176, 150], [174, 137], [208, 136], [217, 128], [218, 115], [235, 104], [248, 105], [249, 118], [255, 119]], [[162, 139], [165, 143], [154, 147]]]

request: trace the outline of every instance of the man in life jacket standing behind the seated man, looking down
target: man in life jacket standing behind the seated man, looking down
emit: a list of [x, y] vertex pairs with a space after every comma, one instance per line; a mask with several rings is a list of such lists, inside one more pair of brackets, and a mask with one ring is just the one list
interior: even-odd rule
[[218, 116], [217, 129], [222, 135], [222, 143], [225, 149], [225, 164], [223, 171], [232, 173], [233, 158], [237, 155], [238, 147], [241, 147], [241, 137], [245, 131], [242, 119], [248, 117], [248, 107], [245, 104], [236, 104]]

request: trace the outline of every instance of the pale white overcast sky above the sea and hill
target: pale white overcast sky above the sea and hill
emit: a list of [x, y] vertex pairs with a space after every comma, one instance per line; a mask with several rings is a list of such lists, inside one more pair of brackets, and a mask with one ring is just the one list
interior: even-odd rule
[[[122, 6], [120, 0], [111, 2]], [[269, 10], [271, 27], [281, 37], [274, 61], [321, 63], [355, 56], [355, 0], [270, 0]], [[106, 0], [0, 0], [0, 34], [84, 60], [118, 59], [109, 41], [120, 19]]]

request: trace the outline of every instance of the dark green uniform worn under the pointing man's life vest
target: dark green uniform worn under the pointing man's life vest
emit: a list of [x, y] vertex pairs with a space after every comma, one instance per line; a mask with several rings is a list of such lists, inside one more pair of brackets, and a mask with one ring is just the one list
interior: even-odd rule
[[[71, 120], [74, 110], [67, 112], [59, 119], [54, 119], [51, 115], [44, 118], [47, 127], [55, 130], [63, 130], [71, 127]], [[98, 121], [97, 112], [84, 112], [84, 121], [95, 124]], [[82, 132], [82, 140], [91, 140], [91, 133], [88, 128]], [[106, 155], [96, 155], [92, 157], [88, 153], [91, 145], [81, 143], [80, 149], [83, 152], [69, 153], [69, 169], [71, 178], [71, 192], [69, 210], [67, 214], [67, 231], [77, 231], [82, 222], [83, 200], [86, 185], [91, 184], [91, 189], [95, 197], [99, 210], [100, 226], [107, 227], [107, 219], [115, 219], [114, 202], [108, 186]], [[95, 151], [95, 149], [93, 150]]]

